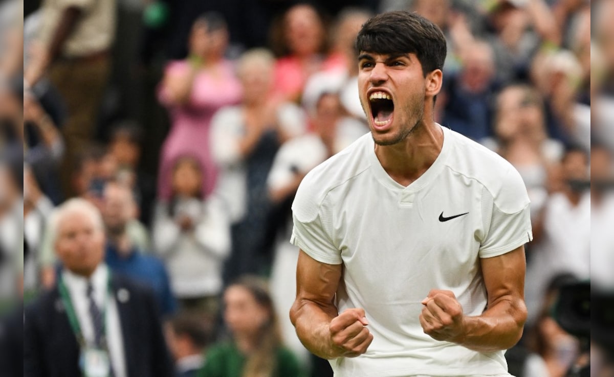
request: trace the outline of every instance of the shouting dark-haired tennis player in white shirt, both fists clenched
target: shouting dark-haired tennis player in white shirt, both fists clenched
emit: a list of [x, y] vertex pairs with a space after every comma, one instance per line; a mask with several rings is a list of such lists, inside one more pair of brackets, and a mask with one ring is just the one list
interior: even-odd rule
[[521, 337], [529, 198], [497, 154], [433, 121], [446, 42], [414, 13], [356, 41], [367, 134], [293, 203], [290, 311], [338, 377], [509, 376]]

